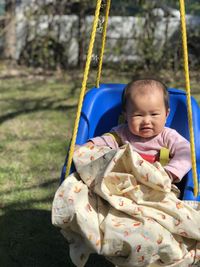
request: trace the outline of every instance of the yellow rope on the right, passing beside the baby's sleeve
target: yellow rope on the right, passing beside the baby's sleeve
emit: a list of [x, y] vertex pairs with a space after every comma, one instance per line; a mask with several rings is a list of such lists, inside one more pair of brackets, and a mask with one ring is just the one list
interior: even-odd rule
[[190, 95], [187, 32], [186, 32], [186, 22], [185, 22], [185, 3], [184, 3], [184, 0], [179, 0], [179, 2], [180, 2], [180, 15], [181, 15], [183, 55], [184, 55], [185, 83], [186, 83], [186, 93], [187, 93], [188, 123], [189, 123], [189, 132], [190, 132], [192, 174], [193, 174], [193, 182], [194, 182], [194, 196], [197, 197], [198, 178], [197, 178], [197, 172], [196, 172], [196, 154], [195, 154], [195, 144], [194, 144], [194, 131], [193, 131], [193, 124], [192, 124], [192, 106], [191, 106], [191, 95]]

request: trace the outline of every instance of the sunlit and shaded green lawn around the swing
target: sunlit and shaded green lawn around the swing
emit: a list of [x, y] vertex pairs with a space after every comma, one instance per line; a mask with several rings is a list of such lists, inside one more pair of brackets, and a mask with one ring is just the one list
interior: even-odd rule
[[[104, 82], [127, 82], [131, 73], [106, 71]], [[169, 84], [183, 88], [182, 74], [165, 72]], [[94, 73], [89, 80], [93, 83]], [[71, 137], [82, 75], [31, 73], [0, 81], [0, 266], [70, 267], [64, 238], [51, 225], [51, 204]], [[199, 76], [192, 73], [200, 101]], [[95, 262], [95, 263], [94, 263]], [[91, 266], [112, 266], [93, 256]]]

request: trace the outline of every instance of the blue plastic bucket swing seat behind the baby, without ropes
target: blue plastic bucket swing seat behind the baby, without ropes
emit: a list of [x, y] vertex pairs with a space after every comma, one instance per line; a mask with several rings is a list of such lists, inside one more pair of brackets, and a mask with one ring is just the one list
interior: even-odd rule
[[[102, 135], [118, 124], [121, 114], [121, 96], [126, 84], [101, 84], [100, 88], [92, 88], [84, 98], [76, 144], [84, 144], [89, 138]], [[166, 126], [175, 129], [189, 140], [186, 94], [184, 91], [169, 88], [170, 115]], [[198, 184], [200, 180], [200, 108], [192, 97], [193, 127], [196, 149]], [[181, 167], [181, 166], [180, 166]], [[65, 176], [65, 165], [61, 181]], [[192, 171], [178, 184], [181, 198], [200, 201], [194, 197]]]

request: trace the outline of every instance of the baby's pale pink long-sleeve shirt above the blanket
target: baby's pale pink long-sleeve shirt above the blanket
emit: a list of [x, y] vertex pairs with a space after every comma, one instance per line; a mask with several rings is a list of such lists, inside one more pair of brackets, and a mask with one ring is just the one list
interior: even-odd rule
[[[166, 147], [170, 152], [170, 161], [164, 166], [165, 170], [177, 177], [175, 182], [180, 181], [191, 169], [190, 143], [176, 130], [165, 127], [163, 131], [152, 138], [142, 138], [133, 135], [127, 124], [114, 127], [114, 132], [120, 137], [122, 144], [130, 143], [134, 151], [147, 155], [157, 155], [160, 149]], [[117, 141], [110, 135], [102, 135], [90, 139], [95, 145], [118, 148]]]

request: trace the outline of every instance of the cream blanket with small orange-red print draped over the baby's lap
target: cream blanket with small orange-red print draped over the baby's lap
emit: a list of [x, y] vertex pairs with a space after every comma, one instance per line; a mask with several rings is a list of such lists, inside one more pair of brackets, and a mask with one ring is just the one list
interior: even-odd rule
[[55, 194], [52, 223], [76, 266], [91, 253], [124, 267], [200, 266], [200, 211], [178, 199], [160, 163], [129, 144], [80, 147], [73, 160], [76, 172]]

